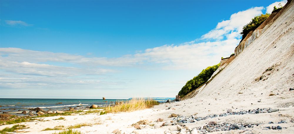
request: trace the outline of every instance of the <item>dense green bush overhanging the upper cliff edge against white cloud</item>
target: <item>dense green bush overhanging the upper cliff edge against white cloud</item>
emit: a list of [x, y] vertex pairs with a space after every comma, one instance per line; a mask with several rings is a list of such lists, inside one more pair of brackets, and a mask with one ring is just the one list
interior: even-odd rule
[[[245, 26], [243, 26], [243, 30], [240, 33], [242, 35], [242, 39], [241, 41], [243, 41], [243, 39], [247, 36], [247, 34], [250, 31], [254, 31], [256, 28], [258, 28], [258, 26], [260, 26], [263, 21], [265, 21], [265, 19], [268, 18], [268, 16], [270, 16], [270, 14], [266, 13], [266, 14], [261, 14], [259, 16], [255, 16], [252, 21], [250, 21], [248, 24], [246, 24]], [[240, 43], [241, 43], [240, 41]]]

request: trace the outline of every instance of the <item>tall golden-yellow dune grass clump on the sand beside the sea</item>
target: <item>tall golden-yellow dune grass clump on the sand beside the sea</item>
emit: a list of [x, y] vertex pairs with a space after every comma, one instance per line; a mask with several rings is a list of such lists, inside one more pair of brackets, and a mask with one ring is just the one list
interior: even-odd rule
[[158, 105], [158, 102], [150, 98], [133, 98], [126, 101], [123, 104], [108, 106], [105, 108], [106, 113], [116, 113], [116, 112], [129, 112], [134, 110], [141, 110], [146, 108], [151, 108], [154, 105]]

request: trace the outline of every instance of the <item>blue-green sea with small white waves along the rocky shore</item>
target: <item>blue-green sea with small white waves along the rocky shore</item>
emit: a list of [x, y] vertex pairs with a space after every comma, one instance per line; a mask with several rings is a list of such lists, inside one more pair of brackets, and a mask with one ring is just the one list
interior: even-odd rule
[[[131, 99], [131, 98], [129, 98]], [[29, 108], [42, 108], [44, 110], [68, 110], [69, 107], [85, 109], [93, 104], [100, 107], [109, 105], [116, 101], [126, 101], [129, 99], [20, 99], [20, 98], [0, 98], [0, 112], [8, 112], [17, 114]], [[175, 98], [151, 98], [160, 103], [166, 102], [168, 99]]]

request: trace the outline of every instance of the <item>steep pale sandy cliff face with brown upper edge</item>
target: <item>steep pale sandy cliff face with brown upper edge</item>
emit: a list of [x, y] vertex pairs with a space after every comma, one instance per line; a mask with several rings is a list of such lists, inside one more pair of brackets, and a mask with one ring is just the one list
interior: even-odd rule
[[[293, 29], [294, 2], [288, 0], [280, 11], [273, 12], [255, 31], [248, 33], [235, 48], [235, 55], [221, 60], [207, 83], [184, 98], [250, 91], [252, 88], [294, 87]], [[266, 72], [268, 68], [275, 71]], [[262, 80], [256, 81], [261, 76]]]

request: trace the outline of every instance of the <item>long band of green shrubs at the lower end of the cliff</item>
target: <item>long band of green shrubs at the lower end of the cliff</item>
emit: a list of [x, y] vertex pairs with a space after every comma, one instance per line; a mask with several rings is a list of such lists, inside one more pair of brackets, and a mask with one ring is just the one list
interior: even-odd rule
[[220, 63], [214, 66], [209, 66], [206, 69], [203, 69], [201, 73], [195, 76], [190, 81], [187, 81], [186, 85], [183, 86], [181, 91], [178, 93], [179, 96], [184, 97], [186, 94], [190, 93], [191, 91], [195, 90], [202, 84], [206, 83], [208, 79], [212, 76], [213, 72], [218, 69]]

